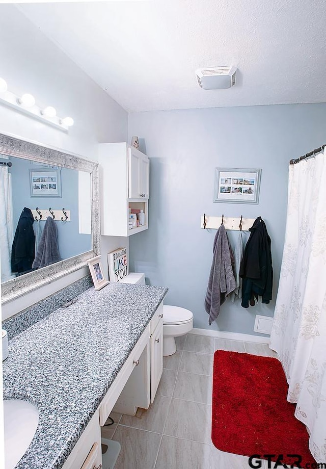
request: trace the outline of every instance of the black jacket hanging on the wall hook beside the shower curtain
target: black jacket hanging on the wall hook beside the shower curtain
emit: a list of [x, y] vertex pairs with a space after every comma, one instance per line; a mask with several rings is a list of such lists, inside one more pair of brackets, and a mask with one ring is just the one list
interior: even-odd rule
[[264, 221], [258, 217], [249, 228], [250, 237], [244, 248], [240, 265], [242, 277], [241, 306], [254, 306], [258, 295], [262, 303], [269, 303], [273, 286], [273, 267], [271, 266], [270, 238]]

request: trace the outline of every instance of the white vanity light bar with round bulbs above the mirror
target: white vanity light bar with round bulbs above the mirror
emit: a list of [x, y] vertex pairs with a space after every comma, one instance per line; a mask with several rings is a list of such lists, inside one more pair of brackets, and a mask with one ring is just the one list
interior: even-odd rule
[[11, 91], [8, 91], [6, 81], [0, 77], [0, 103], [15, 109], [30, 117], [45, 122], [53, 127], [59, 128], [64, 132], [73, 125], [71, 117], [60, 118], [57, 116], [57, 111], [52, 106], [47, 106], [44, 109], [39, 108], [35, 104], [35, 98], [30, 93], [25, 93], [22, 96], [17, 96]]

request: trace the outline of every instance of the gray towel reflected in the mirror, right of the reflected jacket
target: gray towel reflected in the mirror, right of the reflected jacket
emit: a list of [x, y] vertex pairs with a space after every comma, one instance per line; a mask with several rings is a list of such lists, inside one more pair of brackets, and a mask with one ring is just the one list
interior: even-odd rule
[[58, 228], [52, 217], [47, 217], [38, 244], [32, 269], [49, 266], [61, 260], [58, 245]]

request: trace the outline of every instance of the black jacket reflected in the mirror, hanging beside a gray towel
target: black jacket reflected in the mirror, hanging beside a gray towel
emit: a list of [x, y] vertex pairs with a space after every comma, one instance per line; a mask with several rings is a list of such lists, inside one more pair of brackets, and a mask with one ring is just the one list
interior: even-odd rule
[[35, 257], [34, 217], [32, 211], [24, 207], [18, 220], [11, 248], [11, 271], [19, 274], [32, 269]]

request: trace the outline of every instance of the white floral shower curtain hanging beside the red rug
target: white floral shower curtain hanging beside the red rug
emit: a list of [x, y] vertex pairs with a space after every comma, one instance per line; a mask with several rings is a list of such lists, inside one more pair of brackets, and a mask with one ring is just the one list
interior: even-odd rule
[[[326, 154], [289, 166], [285, 244], [270, 348], [289, 384], [288, 401], [326, 462]], [[294, 451], [295, 449], [293, 449]]]

